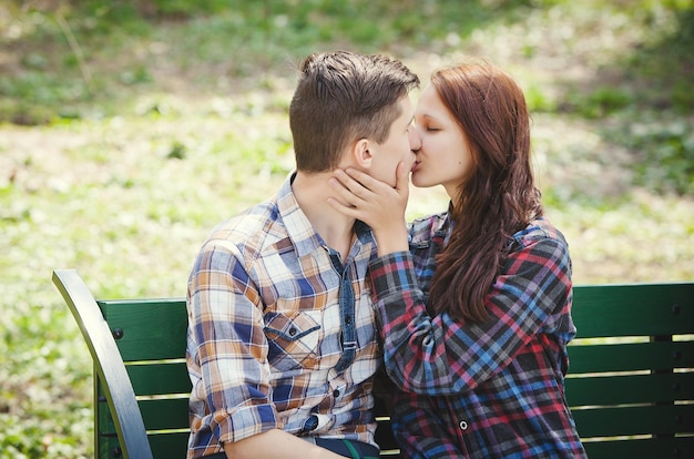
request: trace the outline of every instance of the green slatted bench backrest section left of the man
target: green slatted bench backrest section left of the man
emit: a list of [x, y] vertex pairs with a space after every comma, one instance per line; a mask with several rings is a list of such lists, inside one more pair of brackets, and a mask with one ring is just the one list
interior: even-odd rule
[[[184, 457], [191, 380], [185, 366], [187, 314], [180, 298], [98, 302], [125, 364], [154, 458]], [[98, 375], [98, 373], [94, 373]], [[99, 458], [120, 448], [104, 384], [95, 378]], [[106, 435], [104, 435], [106, 434]]]

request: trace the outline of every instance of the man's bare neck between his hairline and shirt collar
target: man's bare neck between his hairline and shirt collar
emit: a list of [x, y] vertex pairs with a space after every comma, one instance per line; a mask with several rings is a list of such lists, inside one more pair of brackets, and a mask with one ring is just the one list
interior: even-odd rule
[[340, 214], [327, 203], [328, 197], [338, 198], [328, 183], [330, 176], [329, 172], [308, 174], [298, 171], [292, 191], [316, 233], [328, 247], [340, 253], [344, 262], [351, 247], [355, 220]]

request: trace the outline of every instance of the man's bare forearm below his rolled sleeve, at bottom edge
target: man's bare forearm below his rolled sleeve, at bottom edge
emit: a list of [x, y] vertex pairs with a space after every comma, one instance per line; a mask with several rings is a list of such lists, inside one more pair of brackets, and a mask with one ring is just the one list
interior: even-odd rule
[[229, 459], [335, 459], [343, 457], [279, 429], [267, 430], [233, 443], [224, 443], [224, 452]]

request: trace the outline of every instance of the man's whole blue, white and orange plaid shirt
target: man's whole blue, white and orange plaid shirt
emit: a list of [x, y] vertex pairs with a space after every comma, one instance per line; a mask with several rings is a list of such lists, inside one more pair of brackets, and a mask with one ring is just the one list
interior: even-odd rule
[[357, 222], [343, 265], [290, 182], [217, 226], [191, 271], [188, 458], [273, 428], [376, 445], [381, 353], [367, 285], [376, 244]]

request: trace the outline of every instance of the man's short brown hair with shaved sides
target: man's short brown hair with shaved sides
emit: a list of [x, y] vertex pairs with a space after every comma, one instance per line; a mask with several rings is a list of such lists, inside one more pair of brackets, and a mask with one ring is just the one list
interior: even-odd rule
[[385, 142], [400, 115], [398, 102], [418, 85], [416, 74], [385, 55], [310, 54], [299, 67], [289, 105], [297, 169], [329, 171], [353, 142]]

